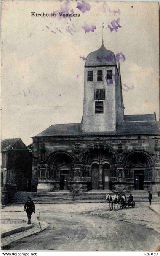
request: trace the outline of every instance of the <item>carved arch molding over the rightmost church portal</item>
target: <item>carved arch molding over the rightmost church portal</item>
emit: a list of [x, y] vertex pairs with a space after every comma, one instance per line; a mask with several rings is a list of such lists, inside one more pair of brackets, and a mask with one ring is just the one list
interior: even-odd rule
[[147, 159], [147, 163], [149, 164], [149, 167], [154, 167], [154, 161], [152, 159], [152, 156], [149, 154], [149, 152], [144, 151], [144, 150], [134, 150], [134, 151], [131, 151], [130, 153], [128, 153], [128, 155], [125, 157], [124, 168], [129, 167], [129, 161], [134, 154], [141, 154], [141, 155], [145, 156]]

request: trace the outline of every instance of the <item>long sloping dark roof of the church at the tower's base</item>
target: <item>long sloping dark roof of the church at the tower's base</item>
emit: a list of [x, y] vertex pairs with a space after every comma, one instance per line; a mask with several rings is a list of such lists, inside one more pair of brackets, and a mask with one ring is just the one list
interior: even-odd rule
[[132, 122], [118, 122], [116, 132], [95, 132], [82, 133], [82, 123], [69, 123], [62, 125], [51, 125], [46, 130], [42, 131], [35, 137], [43, 136], [73, 136], [73, 135], [93, 135], [93, 134], [159, 134], [158, 121], [132, 121]]

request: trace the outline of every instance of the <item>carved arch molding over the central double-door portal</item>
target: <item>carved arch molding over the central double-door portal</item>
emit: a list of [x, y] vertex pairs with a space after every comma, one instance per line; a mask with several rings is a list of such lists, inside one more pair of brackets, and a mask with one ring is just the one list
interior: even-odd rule
[[105, 142], [94, 142], [94, 143], [91, 143], [88, 146], [86, 146], [85, 149], [83, 149], [83, 151], [80, 154], [80, 162], [85, 162], [85, 160], [88, 157], [88, 154], [90, 152], [90, 149], [94, 149], [94, 148], [100, 149], [101, 146], [104, 148], [106, 147], [106, 149], [110, 149], [110, 152], [112, 153], [112, 156], [113, 156], [113, 161], [117, 162], [117, 154], [116, 154], [115, 149]]

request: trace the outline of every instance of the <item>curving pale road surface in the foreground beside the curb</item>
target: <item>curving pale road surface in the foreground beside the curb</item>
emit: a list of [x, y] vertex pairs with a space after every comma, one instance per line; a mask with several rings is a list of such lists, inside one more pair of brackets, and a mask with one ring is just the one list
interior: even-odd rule
[[56, 211], [42, 212], [41, 218], [50, 224], [47, 230], [23, 238], [8, 249], [154, 251], [158, 247], [158, 232], [153, 228], [109, 215]]

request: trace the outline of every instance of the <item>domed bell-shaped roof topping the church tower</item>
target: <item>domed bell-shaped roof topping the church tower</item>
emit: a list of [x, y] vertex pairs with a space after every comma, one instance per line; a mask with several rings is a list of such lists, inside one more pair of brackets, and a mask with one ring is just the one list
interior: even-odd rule
[[104, 44], [102, 44], [98, 50], [88, 54], [86, 57], [85, 66], [104, 66], [116, 64], [117, 63], [114, 53], [110, 50], [107, 50], [104, 47]]

